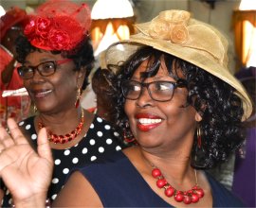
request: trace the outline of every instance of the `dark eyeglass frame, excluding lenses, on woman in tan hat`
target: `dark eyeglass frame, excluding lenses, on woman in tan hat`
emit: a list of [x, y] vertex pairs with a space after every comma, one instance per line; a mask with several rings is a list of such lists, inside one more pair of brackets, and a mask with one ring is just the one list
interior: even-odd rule
[[[131, 81], [133, 81], [133, 82], [137, 82], [137, 84], [138, 85], [140, 85], [140, 92], [139, 92], [139, 94], [137, 95], [137, 98], [128, 98], [125, 94], [124, 94], [124, 90], [123, 90], [123, 83], [127, 83], [127, 82], [131, 82]], [[185, 80], [185, 79], [183, 79], [183, 78], [179, 78], [179, 79], [177, 79], [177, 81], [176, 82], [174, 82], [174, 81], [166, 81], [166, 80], [158, 80], [158, 81], [152, 81], [152, 82], [139, 82], [139, 81], [137, 81], [137, 80], [125, 80], [124, 82], [122, 82], [121, 83], [121, 93], [122, 93], [122, 95], [124, 96], [124, 98], [125, 99], [129, 99], [129, 100], [137, 100], [139, 97], [140, 97], [140, 95], [142, 94], [142, 89], [143, 89], [143, 87], [145, 87], [146, 89], [147, 89], [147, 91], [148, 91], [148, 94], [150, 95], [150, 97], [153, 99], [153, 100], [155, 100], [155, 101], [157, 101], [157, 102], [167, 102], [167, 101], [170, 101], [170, 100], [172, 100], [173, 99], [173, 97], [174, 97], [174, 90], [173, 90], [173, 95], [171, 96], [171, 98], [169, 98], [169, 99], [166, 99], [166, 100], [159, 100], [159, 99], [155, 99], [154, 97], [153, 97], [153, 95], [152, 95], [152, 93], [151, 93], [151, 91], [149, 90], [149, 86], [151, 85], [151, 84], [153, 84], [153, 83], [156, 83], [156, 82], [165, 82], [165, 83], [171, 83], [173, 86], [174, 86], [174, 90], [176, 89], [176, 88], [184, 88], [184, 87], [188, 87], [188, 83], [187, 83], [187, 80]]]

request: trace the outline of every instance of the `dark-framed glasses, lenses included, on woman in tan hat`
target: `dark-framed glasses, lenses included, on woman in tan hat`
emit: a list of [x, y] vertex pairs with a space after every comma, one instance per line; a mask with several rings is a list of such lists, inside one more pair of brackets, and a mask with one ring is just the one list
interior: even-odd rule
[[174, 89], [177, 87], [187, 87], [187, 81], [178, 79], [173, 81], [153, 81], [149, 83], [141, 83], [135, 80], [127, 80], [122, 82], [121, 91], [126, 99], [136, 100], [142, 93], [142, 88], [148, 90], [150, 97], [159, 102], [169, 101], [173, 98]]

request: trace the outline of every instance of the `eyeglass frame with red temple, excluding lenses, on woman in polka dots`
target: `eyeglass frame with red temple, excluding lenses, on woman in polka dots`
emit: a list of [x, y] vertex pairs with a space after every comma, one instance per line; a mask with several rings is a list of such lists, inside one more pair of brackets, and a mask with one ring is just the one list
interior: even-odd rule
[[[39, 64], [36, 65], [36, 66], [25, 66], [25, 65], [22, 65], [22, 66], [17, 67], [17, 71], [18, 71], [19, 76], [20, 76], [21, 78], [23, 78], [23, 79], [30, 79], [30, 78], [24, 78], [24, 77], [21, 76], [21, 73], [22, 73], [22, 72], [21, 72], [21, 69], [22, 69], [22, 67], [30, 68], [30, 69], [33, 70], [33, 75], [31, 76], [31, 78], [34, 77], [34, 75], [35, 75], [35, 70], [36, 70], [36, 71], [39, 73], [39, 75], [41, 75], [42, 77], [49, 77], [49, 76], [55, 74], [58, 65], [64, 64], [64, 63], [69, 62], [69, 61], [72, 61], [72, 60], [71, 60], [71, 59], [64, 59], [64, 60], [57, 60], [57, 61], [44, 61], [44, 62], [39, 63]], [[54, 70], [53, 70], [53, 73], [51, 73], [51, 74], [45, 76], [45, 75], [42, 74], [42, 72], [39, 70], [38, 67], [39, 67], [40, 65], [42, 65], [42, 64], [47, 63], [47, 62], [52, 62], [52, 63], [53, 63], [53, 65], [54, 65]]]

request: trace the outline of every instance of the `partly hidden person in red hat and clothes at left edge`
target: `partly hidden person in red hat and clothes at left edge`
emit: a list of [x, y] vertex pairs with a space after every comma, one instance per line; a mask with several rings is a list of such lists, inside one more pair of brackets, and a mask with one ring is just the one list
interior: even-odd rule
[[0, 124], [6, 126], [8, 117], [14, 117], [20, 121], [27, 117], [29, 111], [28, 96], [7, 96], [2, 97], [4, 90], [17, 90], [23, 87], [22, 78], [19, 77], [15, 59], [14, 42], [23, 29], [27, 13], [24, 9], [17, 7], [1, 17], [1, 44], [0, 44], [0, 71], [1, 71], [1, 102], [0, 102]]

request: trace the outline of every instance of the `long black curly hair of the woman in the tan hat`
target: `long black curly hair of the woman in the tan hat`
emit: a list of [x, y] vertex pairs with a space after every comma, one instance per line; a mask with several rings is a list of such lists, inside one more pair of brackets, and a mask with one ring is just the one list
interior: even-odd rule
[[[119, 128], [125, 135], [133, 137], [128, 117], [124, 113], [125, 98], [121, 93], [120, 84], [123, 80], [132, 78], [137, 67], [146, 59], [151, 60], [147, 71], [141, 73], [141, 78], [154, 77], [160, 67], [163, 57], [169, 74], [178, 79], [176, 69], [181, 70], [183, 79], [187, 80], [188, 97], [186, 108], [192, 105], [196, 112], [202, 116], [198, 124], [202, 132], [202, 147], [197, 148], [197, 136], [194, 133], [192, 147], [192, 166], [209, 169], [219, 162], [226, 161], [232, 150], [242, 145], [244, 133], [242, 127], [242, 100], [235, 94], [235, 89], [220, 78], [212, 76], [207, 71], [183, 61], [170, 54], [158, 51], [151, 46], [141, 47], [129, 58], [119, 65], [109, 65], [118, 68], [115, 84], [115, 116]], [[175, 63], [173, 67], [173, 62]], [[202, 155], [203, 152], [203, 155]], [[199, 154], [199, 155], [198, 155]]]

